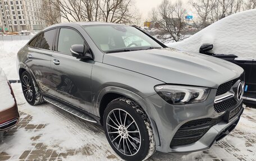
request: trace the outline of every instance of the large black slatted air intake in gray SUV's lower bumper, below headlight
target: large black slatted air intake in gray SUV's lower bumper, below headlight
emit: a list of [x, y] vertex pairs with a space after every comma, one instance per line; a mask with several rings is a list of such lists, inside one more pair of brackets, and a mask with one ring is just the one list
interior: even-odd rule
[[198, 141], [212, 126], [222, 121], [222, 116], [217, 118], [202, 118], [186, 122], [176, 132], [171, 141], [171, 146], [187, 145]]

